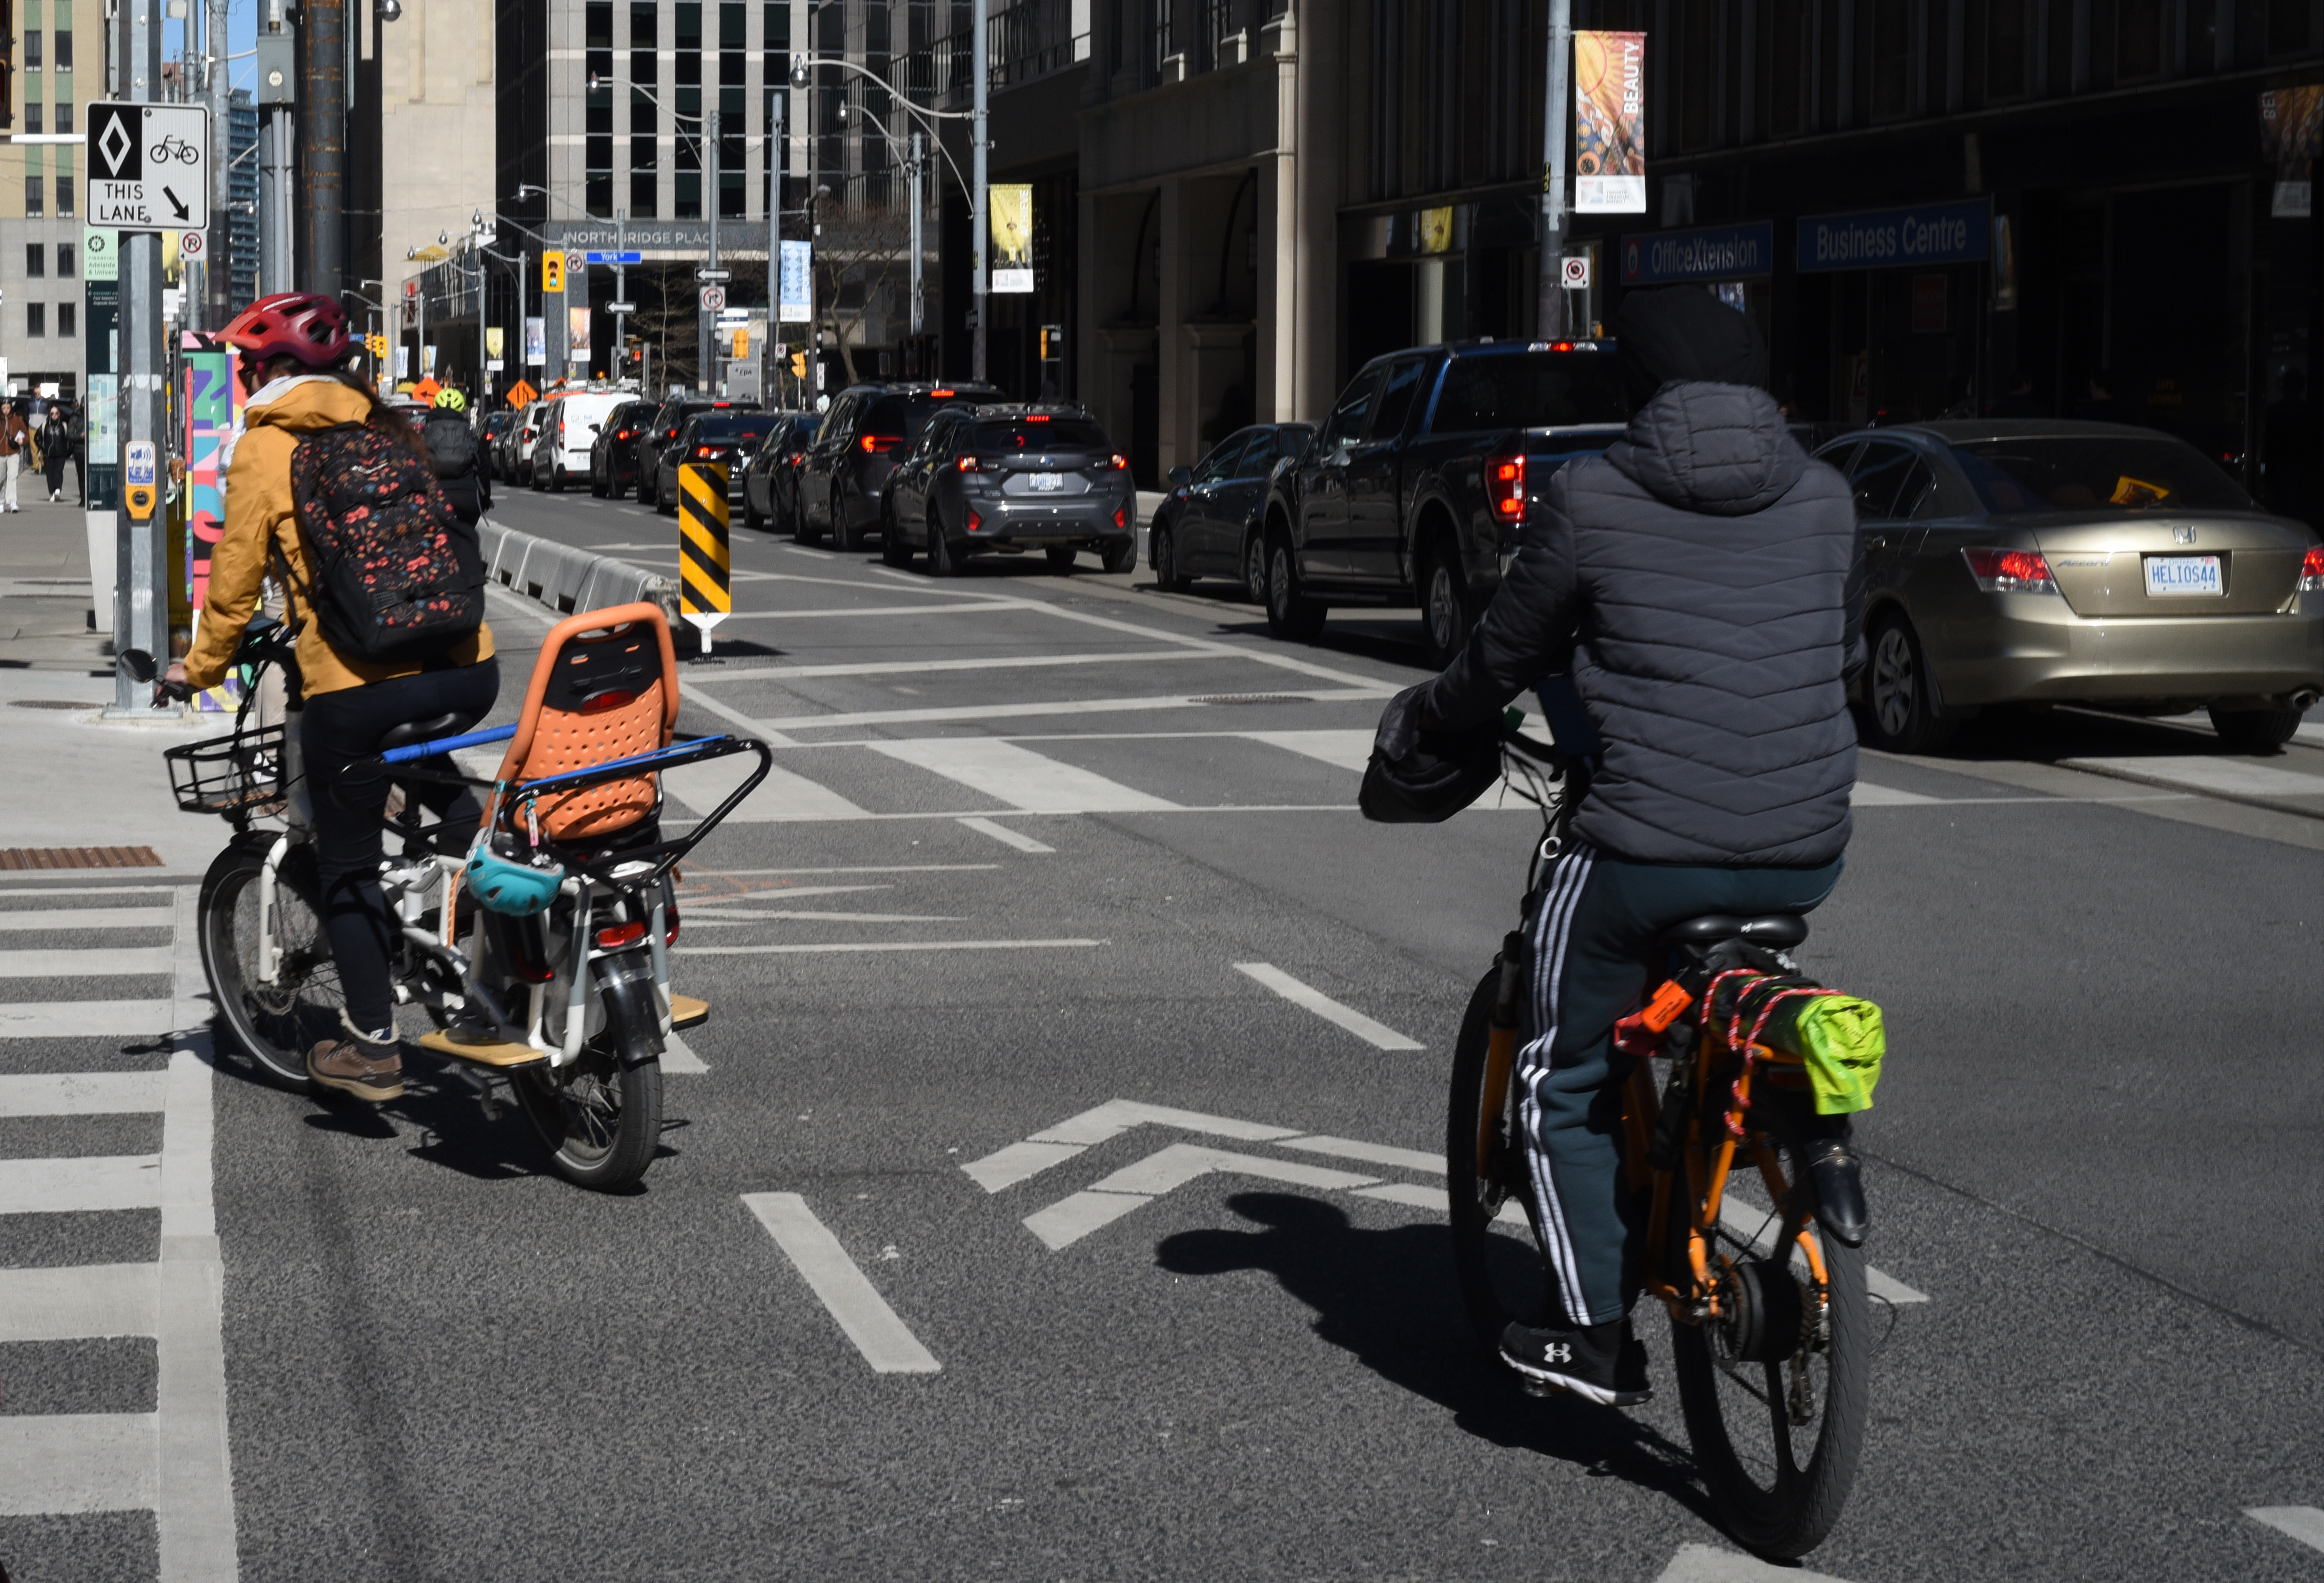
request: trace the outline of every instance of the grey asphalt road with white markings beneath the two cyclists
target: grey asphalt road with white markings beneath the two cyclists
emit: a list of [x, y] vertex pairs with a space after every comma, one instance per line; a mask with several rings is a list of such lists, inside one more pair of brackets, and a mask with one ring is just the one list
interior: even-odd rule
[[[500, 518], [676, 565], [634, 504]], [[1525, 1397], [1466, 1341], [1422, 1155], [1534, 816], [1355, 814], [1422, 674], [1408, 614], [1285, 646], [1225, 586], [1092, 558], [937, 583], [737, 528], [734, 565], [683, 723], [753, 723], [779, 776], [688, 865], [706, 1072], [667, 1079], [639, 1192], [546, 1176], [423, 1062], [376, 1113], [218, 1067], [244, 1578], [1762, 1576], [1694, 1483], [1659, 1320], [1631, 1413]], [[548, 618], [493, 621], [507, 714]], [[2324, 1506], [2324, 823], [2194, 762], [2196, 728], [2059, 714], [1864, 758], [1801, 955], [1887, 1009], [1859, 1139], [1899, 1299], [1822, 1576], [2324, 1576], [2245, 1516]], [[2324, 751], [2266, 762], [2324, 793]], [[123, 993], [167, 988], [0, 979]], [[156, 1137], [0, 1120], [0, 1155]], [[0, 1216], [0, 1265], [153, 1230]], [[0, 1434], [153, 1399], [146, 1341], [0, 1348]], [[0, 1518], [0, 1562], [149, 1578], [153, 1518]]]

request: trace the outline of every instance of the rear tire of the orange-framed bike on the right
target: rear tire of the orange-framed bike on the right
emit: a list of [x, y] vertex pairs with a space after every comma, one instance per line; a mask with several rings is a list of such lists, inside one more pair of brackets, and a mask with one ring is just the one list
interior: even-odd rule
[[[1764, 1130], [1780, 1151], [1787, 1148], [1787, 1172], [1796, 1172], [1794, 1127], [1787, 1120], [1769, 1123], [1764, 1109], [1755, 1109], [1752, 1127]], [[1799, 1181], [1796, 1174], [1787, 1179]], [[1813, 1186], [1801, 1181], [1799, 1190], [1813, 1192]], [[1815, 1220], [1810, 1218], [1808, 1225], [1813, 1227]], [[1722, 1232], [1722, 1246], [1731, 1255], [1743, 1241]], [[1824, 1541], [1834, 1523], [1841, 1520], [1864, 1451], [1873, 1351], [1866, 1260], [1862, 1248], [1848, 1248], [1836, 1237], [1820, 1234], [1817, 1246], [1831, 1283], [1827, 1297], [1831, 1334], [1820, 1353], [1822, 1378], [1810, 1376], [1817, 1411], [1803, 1462], [1794, 1444], [1799, 1437], [1787, 1423], [1789, 1392], [1780, 1381], [1787, 1367], [1813, 1369], [1808, 1360], [1817, 1353], [1801, 1346], [1794, 1360], [1738, 1362], [1722, 1358], [1722, 1337], [1710, 1325], [1671, 1320], [1678, 1399], [1685, 1406], [1687, 1439], [1694, 1446], [1694, 1464], [1703, 1474], [1710, 1502], [1743, 1546], [1778, 1560], [1799, 1560]], [[1759, 1274], [1789, 1269], [1789, 1258], [1778, 1262], [1778, 1253], [1787, 1255], [1787, 1248], [1766, 1251], [1766, 1258], [1759, 1260]], [[1806, 1283], [1796, 1281], [1796, 1285], [1801, 1302], [1806, 1302]], [[1752, 1388], [1741, 1376], [1743, 1369], [1759, 1369], [1762, 1388]], [[1745, 1406], [1750, 1402], [1757, 1402], [1757, 1411]], [[1731, 1416], [1762, 1413], [1759, 1425], [1729, 1423]]]

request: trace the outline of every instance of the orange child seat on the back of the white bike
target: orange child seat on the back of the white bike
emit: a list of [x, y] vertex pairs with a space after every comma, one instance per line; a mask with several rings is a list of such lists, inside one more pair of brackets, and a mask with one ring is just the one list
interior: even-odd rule
[[[667, 748], [679, 723], [679, 656], [658, 604], [616, 604], [567, 616], [541, 639], [516, 737], [500, 760], [507, 786]], [[646, 772], [535, 804], [541, 835], [586, 841], [651, 818], [658, 776]]]

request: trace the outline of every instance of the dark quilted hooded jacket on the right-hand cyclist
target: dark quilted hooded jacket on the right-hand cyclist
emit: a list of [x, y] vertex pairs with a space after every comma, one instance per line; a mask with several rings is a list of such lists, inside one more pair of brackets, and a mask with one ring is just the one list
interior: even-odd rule
[[1636, 862], [1831, 862], [1857, 779], [1855, 544], [1848, 484], [1773, 395], [1666, 384], [1550, 479], [1427, 714], [1478, 725], [1571, 672], [1604, 751], [1576, 837]]

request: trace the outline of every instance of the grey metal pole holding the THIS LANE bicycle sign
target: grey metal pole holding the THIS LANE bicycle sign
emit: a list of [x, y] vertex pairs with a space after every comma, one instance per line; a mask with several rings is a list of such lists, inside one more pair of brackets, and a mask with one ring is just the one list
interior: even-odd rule
[[[114, 14], [114, 67], [123, 100], [160, 100], [160, 0], [121, 0]], [[163, 321], [160, 232], [121, 232], [121, 446], [123, 456], [151, 446], [160, 456]], [[125, 467], [123, 467], [125, 474]], [[158, 486], [158, 477], [153, 479]], [[170, 532], [160, 509], [130, 516], [128, 490], [114, 516], [114, 656], [130, 649], [165, 660], [170, 653]], [[119, 716], [151, 711], [151, 693], [114, 660]]]

